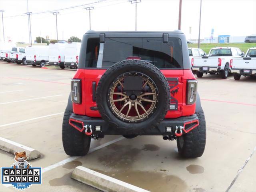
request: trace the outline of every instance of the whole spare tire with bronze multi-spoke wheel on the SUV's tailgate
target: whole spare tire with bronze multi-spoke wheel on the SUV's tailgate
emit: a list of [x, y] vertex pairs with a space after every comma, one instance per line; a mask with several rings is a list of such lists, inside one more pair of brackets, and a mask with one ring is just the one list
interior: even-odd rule
[[102, 118], [120, 134], [141, 134], [164, 119], [170, 106], [170, 87], [150, 62], [124, 60], [100, 78], [96, 103]]

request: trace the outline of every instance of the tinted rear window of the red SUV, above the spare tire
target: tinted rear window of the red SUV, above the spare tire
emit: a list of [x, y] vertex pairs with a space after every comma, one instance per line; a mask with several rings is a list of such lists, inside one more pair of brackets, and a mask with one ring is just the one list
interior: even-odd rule
[[179, 38], [168, 38], [168, 43], [163, 38], [105, 38], [104, 44], [100, 44], [99, 38], [89, 38], [86, 67], [108, 68], [130, 56], [141, 57], [158, 68], [183, 67]]

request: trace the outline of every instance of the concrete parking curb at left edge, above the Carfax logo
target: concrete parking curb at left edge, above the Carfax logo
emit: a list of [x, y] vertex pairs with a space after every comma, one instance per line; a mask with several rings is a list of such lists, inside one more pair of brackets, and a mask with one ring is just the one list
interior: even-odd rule
[[0, 149], [14, 154], [14, 152], [26, 151], [26, 155], [28, 156], [28, 160], [36, 159], [41, 156], [40, 152], [37, 150], [24, 146], [22, 144], [16, 143], [14, 141], [5, 139], [0, 137]]

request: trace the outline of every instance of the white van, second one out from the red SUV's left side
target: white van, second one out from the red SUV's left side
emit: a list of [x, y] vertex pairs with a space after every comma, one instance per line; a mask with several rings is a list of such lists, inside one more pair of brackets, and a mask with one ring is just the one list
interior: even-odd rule
[[66, 43], [49, 44], [49, 65], [59, 66], [64, 69], [64, 49]]

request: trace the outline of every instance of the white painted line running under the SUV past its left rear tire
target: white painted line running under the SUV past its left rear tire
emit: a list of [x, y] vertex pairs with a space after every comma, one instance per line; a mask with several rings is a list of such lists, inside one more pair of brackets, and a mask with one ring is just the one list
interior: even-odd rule
[[[106, 143], [104, 143], [104, 144], [102, 144], [102, 145], [100, 145], [100, 146], [98, 146], [98, 147], [92, 148], [92, 149], [89, 150], [88, 154], [89, 154], [89, 153], [92, 153], [92, 152], [94, 152], [94, 151], [96, 151], [96, 150], [99, 150], [99, 149], [101, 149], [101, 148], [104, 148], [104, 147], [106, 147], [106, 146], [108, 146], [108, 145], [111, 145], [111, 144], [113, 144], [113, 143], [115, 143], [115, 142], [118, 142], [118, 141], [120, 141], [120, 140], [122, 140], [122, 139], [124, 139], [124, 137], [119, 137], [119, 138], [114, 139], [114, 140], [112, 140], [112, 141], [106, 142]], [[80, 156], [69, 157], [69, 158], [66, 158], [66, 159], [64, 159], [64, 160], [62, 160], [62, 161], [60, 161], [60, 162], [57, 162], [57, 163], [52, 164], [52, 165], [50, 165], [50, 166], [48, 166], [48, 167], [45, 167], [45, 168], [42, 169], [42, 173], [47, 172], [47, 171], [50, 171], [50, 170], [52, 170], [52, 169], [54, 169], [54, 168], [56, 168], [56, 167], [58, 167], [58, 166], [64, 165], [65, 163], [74, 161], [75, 159], [77, 159], [77, 158], [79, 158], [79, 157], [80, 157]]]

